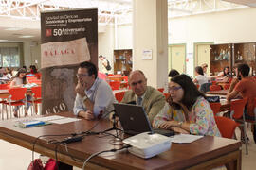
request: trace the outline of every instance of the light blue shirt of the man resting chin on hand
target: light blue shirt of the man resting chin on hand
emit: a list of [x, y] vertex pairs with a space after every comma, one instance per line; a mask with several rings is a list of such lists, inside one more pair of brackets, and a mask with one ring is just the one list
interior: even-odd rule
[[[113, 103], [116, 102], [112, 89], [106, 81], [96, 78], [93, 86], [86, 91], [85, 94], [94, 103], [93, 113], [95, 117], [98, 117], [100, 113], [108, 113], [114, 110]], [[80, 111], [86, 111], [86, 106], [82, 102], [82, 97], [77, 94], [73, 112], [78, 115]]]

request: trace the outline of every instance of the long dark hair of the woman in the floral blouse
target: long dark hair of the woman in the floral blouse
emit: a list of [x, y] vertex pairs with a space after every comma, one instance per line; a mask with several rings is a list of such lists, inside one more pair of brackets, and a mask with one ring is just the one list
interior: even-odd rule
[[[204, 93], [198, 91], [190, 76], [184, 74], [174, 76], [171, 81], [179, 84], [182, 87], [184, 95], [181, 99], [181, 103], [183, 103], [188, 108], [188, 110], [192, 110], [192, 106], [196, 102], [197, 97], [202, 96], [206, 98]], [[180, 106], [174, 105], [174, 108], [180, 109]]]

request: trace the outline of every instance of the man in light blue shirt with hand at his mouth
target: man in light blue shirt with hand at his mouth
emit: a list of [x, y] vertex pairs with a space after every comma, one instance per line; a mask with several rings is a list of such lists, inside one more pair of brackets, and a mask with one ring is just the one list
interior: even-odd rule
[[86, 120], [101, 118], [104, 113], [114, 110], [116, 102], [111, 87], [98, 77], [98, 70], [91, 62], [82, 62], [79, 66], [77, 96], [74, 114]]

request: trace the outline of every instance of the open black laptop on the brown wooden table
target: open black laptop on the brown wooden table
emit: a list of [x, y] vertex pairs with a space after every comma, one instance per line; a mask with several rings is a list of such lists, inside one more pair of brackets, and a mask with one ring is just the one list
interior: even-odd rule
[[137, 135], [146, 131], [165, 136], [173, 136], [175, 134], [173, 130], [152, 128], [148, 116], [142, 106], [114, 103], [114, 108], [124, 133], [126, 134]]

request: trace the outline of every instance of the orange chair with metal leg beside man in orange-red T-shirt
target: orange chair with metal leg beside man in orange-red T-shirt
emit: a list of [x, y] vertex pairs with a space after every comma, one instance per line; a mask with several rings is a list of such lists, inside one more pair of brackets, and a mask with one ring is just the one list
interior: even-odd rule
[[[231, 101], [231, 107], [230, 107], [230, 118], [233, 119], [235, 122], [239, 123], [240, 124], [239, 126], [243, 127], [245, 136], [247, 136], [246, 119], [244, 114], [244, 109], [246, 104], [247, 104], [247, 98], [233, 100]], [[245, 137], [245, 143], [246, 143], [246, 154], [248, 154], [246, 137]]]

